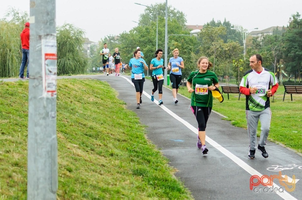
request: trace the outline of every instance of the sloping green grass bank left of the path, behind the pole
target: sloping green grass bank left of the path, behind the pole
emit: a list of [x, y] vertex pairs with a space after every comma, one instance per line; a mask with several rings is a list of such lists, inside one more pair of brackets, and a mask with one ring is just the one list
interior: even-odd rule
[[[28, 82], [0, 88], [0, 199], [26, 199]], [[193, 199], [116, 96], [106, 82], [58, 80], [57, 198]]]

